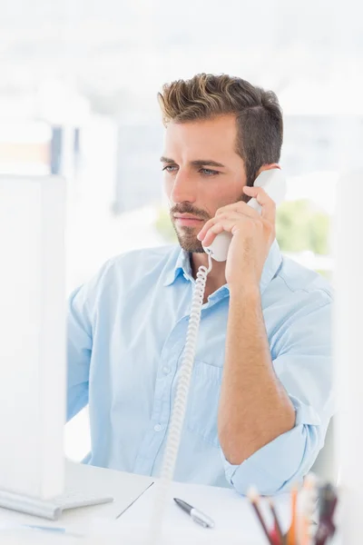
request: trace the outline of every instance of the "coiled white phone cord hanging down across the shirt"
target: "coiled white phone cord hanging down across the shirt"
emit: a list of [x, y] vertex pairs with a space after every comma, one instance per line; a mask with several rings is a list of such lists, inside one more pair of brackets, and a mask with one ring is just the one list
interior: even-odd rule
[[167, 493], [174, 475], [175, 464], [182, 438], [182, 427], [187, 408], [188, 393], [191, 384], [191, 373], [197, 347], [199, 325], [201, 322], [201, 306], [203, 304], [205, 284], [207, 282], [208, 273], [211, 272], [211, 266], [211, 254], [208, 253], [208, 268], [201, 265], [197, 272], [194, 292], [191, 299], [191, 314], [182, 357], [181, 372], [172, 407], [172, 418], [169, 426], [164, 458], [162, 461], [161, 478], [155, 483], [157, 491], [153, 505], [150, 528], [152, 545], [159, 545], [161, 543], [160, 537], [162, 532], [162, 517], [165, 511]]

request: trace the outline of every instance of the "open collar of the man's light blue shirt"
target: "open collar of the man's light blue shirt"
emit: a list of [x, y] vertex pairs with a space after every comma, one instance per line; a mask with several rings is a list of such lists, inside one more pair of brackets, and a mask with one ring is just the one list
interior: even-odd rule
[[[275, 239], [270, 247], [270, 252], [267, 260], [264, 264], [263, 271], [260, 279], [260, 292], [264, 292], [271, 280], [276, 276], [280, 270], [282, 263], [282, 255], [280, 252], [280, 246]], [[191, 261], [190, 254], [178, 247], [172, 252], [171, 257], [166, 266], [164, 286], [170, 286], [178, 278], [180, 274], [184, 275], [186, 279], [191, 280]], [[228, 288], [228, 284], [226, 285]]]

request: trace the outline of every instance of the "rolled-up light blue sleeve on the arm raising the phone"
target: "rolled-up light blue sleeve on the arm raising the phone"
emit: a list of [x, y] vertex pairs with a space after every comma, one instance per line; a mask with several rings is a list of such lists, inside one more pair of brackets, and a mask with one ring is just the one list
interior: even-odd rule
[[263, 495], [289, 490], [309, 472], [324, 444], [333, 414], [331, 302], [301, 313], [285, 324], [272, 360], [295, 408], [294, 428], [240, 465], [232, 465], [221, 451], [226, 478], [240, 494], [252, 484]]

